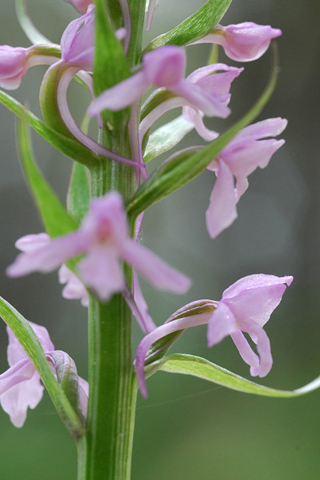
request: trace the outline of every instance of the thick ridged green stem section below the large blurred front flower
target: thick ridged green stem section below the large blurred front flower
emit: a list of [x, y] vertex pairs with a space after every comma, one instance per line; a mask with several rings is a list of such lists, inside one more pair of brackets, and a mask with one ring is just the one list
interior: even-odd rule
[[121, 295], [90, 299], [90, 399], [85, 480], [129, 480], [136, 382], [131, 312]]

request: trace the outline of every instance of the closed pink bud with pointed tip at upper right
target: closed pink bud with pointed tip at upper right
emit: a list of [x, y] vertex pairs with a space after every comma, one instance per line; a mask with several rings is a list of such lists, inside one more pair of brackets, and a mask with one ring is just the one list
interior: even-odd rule
[[257, 60], [268, 49], [273, 38], [282, 34], [270, 25], [257, 25], [252, 22], [239, 23], [215, 30], [194, 43], [216, 43], [224, 48], [226, 55], [238, 62]]

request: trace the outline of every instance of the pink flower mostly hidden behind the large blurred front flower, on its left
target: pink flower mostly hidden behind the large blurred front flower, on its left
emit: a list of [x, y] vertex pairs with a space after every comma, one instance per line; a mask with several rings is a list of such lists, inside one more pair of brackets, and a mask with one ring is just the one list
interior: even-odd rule
[[[32, 252], [45, 245], [49, 245], [50, 236], [47, 233], [25, 235], [16, 241], [15, 246], [21, 252]], [[62, 296], [67, 299], [79, 299], [84, 307], [89, 305], [88, 292], [79, 278], [66, 266], [59, 269], [59, 282], [65, 283]]]

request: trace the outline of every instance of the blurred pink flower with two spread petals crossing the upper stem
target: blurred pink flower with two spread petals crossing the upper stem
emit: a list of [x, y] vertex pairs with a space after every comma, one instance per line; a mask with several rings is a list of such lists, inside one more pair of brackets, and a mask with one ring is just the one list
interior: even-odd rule
[[182, 97], [208, 116], [225, 118], [229, 95], [212, 95], [207, 88], [184, 78], [186, 67], [185, 49], [166, 45], [146, 53], [143, 67], [138, 73], [118, 83], [97, 97], [88, 110], [90, 116], [102, 110], [121, 110], [137, 102], [150, 86], [164, 87]]

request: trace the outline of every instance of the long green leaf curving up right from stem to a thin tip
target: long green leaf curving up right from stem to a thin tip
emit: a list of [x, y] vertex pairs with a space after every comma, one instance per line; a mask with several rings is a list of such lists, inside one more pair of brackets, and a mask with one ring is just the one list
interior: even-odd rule
[[152, 204], [197, 177], [233, 137], [260, 114], [274, 90], [276, 78], [277, 68], [274, 57], [272, 74], [268, 85], [251, 110], [233, 127], [206, 147], [193, 152], [192, 150], [182, 152], [160, 165], [136, 191], [127, 206], [128, 215], [136, 218], [137, 215]]

